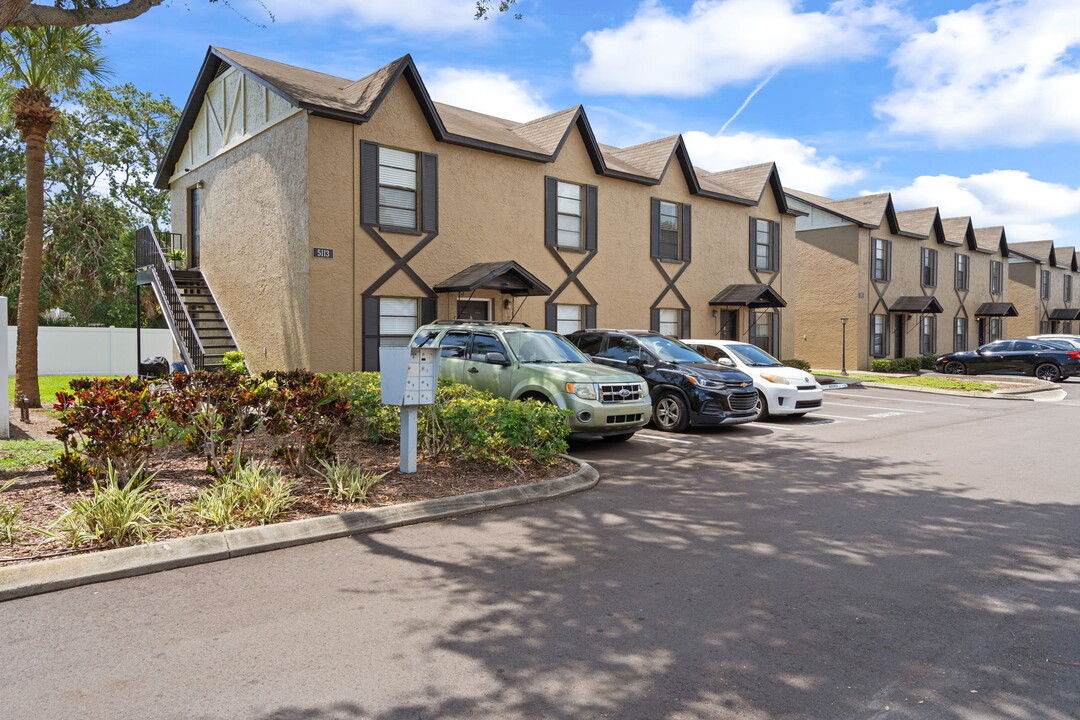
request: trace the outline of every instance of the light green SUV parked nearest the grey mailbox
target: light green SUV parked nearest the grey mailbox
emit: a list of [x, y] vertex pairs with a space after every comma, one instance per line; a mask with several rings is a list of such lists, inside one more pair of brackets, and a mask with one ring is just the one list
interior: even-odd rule
[[413, 336], [414, 348], [441, 348], [438, 377], [511, 399], [571, 410], [570, 435], [626, 440], [652, 415], [640, 377], [595, 365], [566, 338], [511, 323], [441, 321]]

